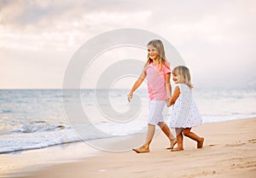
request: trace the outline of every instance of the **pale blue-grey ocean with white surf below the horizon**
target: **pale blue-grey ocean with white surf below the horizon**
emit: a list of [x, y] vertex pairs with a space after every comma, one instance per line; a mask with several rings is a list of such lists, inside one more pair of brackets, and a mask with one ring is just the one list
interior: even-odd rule
[[[84, 140], [95, 140], [119, 135], [134, 135], [146, 131], [148, 94], [139, 89], [141, 100], [136, 115], [119, 118], [108, 117], [101, 106], [112, 108], [116, 113], [129, 110], [126, 95], [129, 89], [99, 90], [81, 89], [81, 105], [88, 119]], [[106, 95], [106, 93], [108, 95]], [[204, 123], [222, 122], [239, 118], [256, 117], [256, 89], [194, 89], [193, 95]], [[73, 119], [68, 117], [64, 100], [73, 100], [73, 95], [62, 95], [61, 89], [1, 89], [0, 90], [0, 153], [17, 153], [65, 143], [82, 141], [73, 130]], [[100, 98], [100, 99], [99, 99]], [[110, 105], [110, 107], [109, 107]], [[169, 115], [171, 108], [166, 108]], [[73, 108], [76, 112], [76, 107]], [[128, 119], [131, 118], [131, 119]], [[166, 121], [168, 123], [168, 121]], [[102, 130], [94, 132], [91, 126]]]

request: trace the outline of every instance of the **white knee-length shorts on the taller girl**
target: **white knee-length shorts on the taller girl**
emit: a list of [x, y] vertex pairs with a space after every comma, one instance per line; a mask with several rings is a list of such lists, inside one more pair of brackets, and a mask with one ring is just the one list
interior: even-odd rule
[[163, 110], [165, 105], [165, 100], [148, 101], [148, 124], [157, 125], [159, 122], [164, 122]]

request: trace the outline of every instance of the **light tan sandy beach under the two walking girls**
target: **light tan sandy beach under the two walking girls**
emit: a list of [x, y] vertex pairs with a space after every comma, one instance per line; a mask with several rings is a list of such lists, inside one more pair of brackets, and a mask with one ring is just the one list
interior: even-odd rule
[[[184, 151], [170, 152], [160, 133], [151, 152], [94, 152], [83, 143], [0, 155], [1, 177], [256, 177], [256, 118], [205, 123], [194, 128], [204, 147], [184, 139]], [[143, 135], [145, 136], [145, 135]], [[133, 138], [136, 139], [136, 138]], [[107, 143], [108, 144], [108, 143]], [[85, 144], [86, 145], [86, 144]], [[88, 151], [86, 151], [88, 152]], [[43, 154], [44, 153], [44, 154]], [[53, 155], [56, 155], [54, 159]], [[77, 159], [73, 159], [76, 155]], [[19, 158], [20, 157], [20, 158]], [[41, 158], [41, 159], [37, 159]], [[78, 158], [82, 159], [78, 159]], [[48, 158], [48, 159], [47, 159]], [[66, 159], [65, 159], [66, 158]], [[68, 163], [68, 158], [72, 162]], [[25, 159], [25, 160], [24, 160]], [[11, 164], [14, 164], [11, 166]], [[21, 164], [21, 165], [20, 165]]]

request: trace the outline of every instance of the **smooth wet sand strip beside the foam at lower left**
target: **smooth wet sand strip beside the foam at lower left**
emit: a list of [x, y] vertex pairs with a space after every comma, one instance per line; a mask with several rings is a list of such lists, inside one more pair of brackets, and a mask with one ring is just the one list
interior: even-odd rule
[[96, 154], [98, 151], [84, 141], [0, 154], [0, 178], [22, 175], [24, 170], [30, 172], [54, 164], [72, 163]]

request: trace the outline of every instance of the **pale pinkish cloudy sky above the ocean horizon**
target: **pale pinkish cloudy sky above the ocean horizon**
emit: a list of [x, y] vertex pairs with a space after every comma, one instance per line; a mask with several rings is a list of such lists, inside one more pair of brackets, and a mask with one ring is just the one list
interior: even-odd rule
[[[61, 89], [76, 51], [119, 28], [165, 37], [197, 88], [256, 89], [253, 0], [0, 0], [0, 89]], [[104, 66], [122, 55], [146, 60], [142, 49], [113, 49], [102, 55]], [[87, 76], [84, 87], [94, 88], [97, 78]]]

